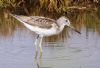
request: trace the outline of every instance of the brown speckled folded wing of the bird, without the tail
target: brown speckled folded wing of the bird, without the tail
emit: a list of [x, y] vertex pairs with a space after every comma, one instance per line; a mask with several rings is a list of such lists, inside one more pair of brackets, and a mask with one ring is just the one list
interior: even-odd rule
[[56, 24], [56, 21], [46, 17], [32, 16], [25, 21], [32, 26], [38, 26], [40, 28], [51, 28], [52, 24]]

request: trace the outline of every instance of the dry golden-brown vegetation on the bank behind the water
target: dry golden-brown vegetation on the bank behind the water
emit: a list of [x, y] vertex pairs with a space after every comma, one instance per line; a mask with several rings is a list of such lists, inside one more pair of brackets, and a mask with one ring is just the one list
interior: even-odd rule
[[12, 12], [33, 14], [33, 11], [68, 12], [70, 9], [86, 9], [100, 5], [99, 0], [0, 0], [0, 7]]

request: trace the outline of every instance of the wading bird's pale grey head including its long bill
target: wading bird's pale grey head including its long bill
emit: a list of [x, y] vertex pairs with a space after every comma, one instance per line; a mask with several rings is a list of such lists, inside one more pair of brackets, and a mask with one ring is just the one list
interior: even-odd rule
[[72, 25], [71, 22], [69, 21], [69, 19], [65, 16], [62, 16], [58, 19], [58, 21], [60, 22], [60, 25], [64, 25], [67, 26], [69, 28], [71, 28], [72, 30], [76, 31], [77, 33], [81, 34], [78, 30], [76, 30]]

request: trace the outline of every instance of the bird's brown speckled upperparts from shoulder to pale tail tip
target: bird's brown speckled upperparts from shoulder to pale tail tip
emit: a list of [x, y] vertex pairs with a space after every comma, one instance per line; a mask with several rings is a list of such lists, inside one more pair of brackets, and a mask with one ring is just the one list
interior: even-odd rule
[[57, 23], [54, 19], [42, 17], [42, 16], [23, 16], [23, 15], [14, 15], [10, 14], [11, 16], [18, 19], [20, 22], [25, 22], [32, 26], [38, 26], [40, 28], [51, 28], [52, 24], [57, 26]]

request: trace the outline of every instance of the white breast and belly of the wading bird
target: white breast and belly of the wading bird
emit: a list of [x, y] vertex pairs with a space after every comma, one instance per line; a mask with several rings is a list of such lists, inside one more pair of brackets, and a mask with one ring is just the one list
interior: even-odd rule
[[27, 23], [24, 23], [24, 25], [30, 29], [31, 31], [43, 35], [43, 36], [51, 36], [51, 35], [55, 35], [58, 33], [57, 27], [52, 26], [52, 28], [40, 28], [38, 26], [31, 26]]

